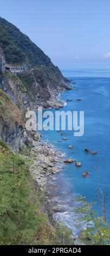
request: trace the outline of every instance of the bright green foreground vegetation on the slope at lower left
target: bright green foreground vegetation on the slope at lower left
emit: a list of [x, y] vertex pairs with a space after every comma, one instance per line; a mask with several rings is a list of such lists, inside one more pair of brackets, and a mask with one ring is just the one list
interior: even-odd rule
[[55, 228], [42, 211], [43, 195], [29, 163], [0, 140], [0, 245], [53, 245], [72, 242], [71, 232]]

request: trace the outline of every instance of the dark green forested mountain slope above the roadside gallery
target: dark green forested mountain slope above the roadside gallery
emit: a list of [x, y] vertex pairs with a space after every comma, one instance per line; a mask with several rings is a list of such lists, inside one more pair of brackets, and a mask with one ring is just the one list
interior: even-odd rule
[[1, 17], [0, 46], [8, 63], [27, 63], [31, 66], [53, 65], [49, 57], [27, 35], [24, 35], [20, 29]]

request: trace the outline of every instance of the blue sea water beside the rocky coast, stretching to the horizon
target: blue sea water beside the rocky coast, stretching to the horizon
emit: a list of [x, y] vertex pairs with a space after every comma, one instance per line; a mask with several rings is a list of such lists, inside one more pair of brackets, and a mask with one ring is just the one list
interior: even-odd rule
[[[82, 163], [81, 167], [67, 164], [53, 181], [57, 190], [68, 207], [64, 213], [56, 214], [56, 218], [63, 219], [71, 228], [75, 213], [76, 197], [85, 196], [88, 202], [98, 201], [96, 191], [98, 188], [107, 193], [106, 209], [107, 218], [110, 219], [110, 70], [66, 70], [63, 75], [74, 80], [74, 90], [67, 90], [61, 94], [61, 99], [67, 102], [64, 111], [85, 111], [85, 133], [82, 137], [74, 137], [73, 131], [64, 131], [64, 136], [57, 131], [42, 131], [42, 139], [55, 144], [57, 148]], [[82, 100], [77, 101], [80, 97]], [[62, 110], [62, 109], [60, 109]], [[55, 113], [55, 109], [53, 109]], [[66, 141], [62, 137], [67, 137]], [[61, 143], [57, 140], [62, 140]], [[73, 145], [69, 149], [68, 145]], [[98, 151], [92, 155], [83, 149]], [[74, 151], [74, 153], [73, 153]], [[89, 171], [86, 178], [82, 177], [85, 170]], [[100, 214], [99, 203], [94, 208]]]

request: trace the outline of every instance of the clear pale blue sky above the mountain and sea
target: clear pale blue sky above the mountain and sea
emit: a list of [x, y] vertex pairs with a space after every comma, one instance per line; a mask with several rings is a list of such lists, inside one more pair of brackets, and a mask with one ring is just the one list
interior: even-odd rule
[[109, 0], [0, 0], [0, 16], [55, 65], [110, 65]]

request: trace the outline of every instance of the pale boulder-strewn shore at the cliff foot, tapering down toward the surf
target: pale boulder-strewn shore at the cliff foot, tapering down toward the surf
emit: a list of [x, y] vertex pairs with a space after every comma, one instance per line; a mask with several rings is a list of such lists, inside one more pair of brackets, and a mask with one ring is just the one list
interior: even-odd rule
[[[36, 135], [38, 137], [38, 134]], [[64, 168], [64, 153], [57, 150], [53, 144], [33, 140], [33, 148], [29, 156], [30, 172], [35, 181], [36, 187], [43, 192], [42, 210], [48, 215], [50, 223], [55, 226], [54, 214], [63, 212], [63, 201], [59, 197], [57, 186], [53, 184], [55, 174]], [[77, 225], [77, 227], [76, 227]], [[80, 224], [75, 224], [80, 229]], [[77, 240], [72, 232], [73, 240]]]

